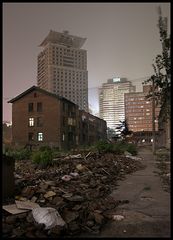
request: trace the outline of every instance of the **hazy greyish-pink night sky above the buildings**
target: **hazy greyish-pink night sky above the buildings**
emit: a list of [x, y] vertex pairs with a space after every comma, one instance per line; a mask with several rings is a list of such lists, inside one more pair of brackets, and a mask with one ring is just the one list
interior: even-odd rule
[[170, 21], [170, 3], [3, 3], [3, 120], [11, 121], [7, 101], [37, 85], [38, 45], [50, 29], [87, 38], [83, 48], [94, 112], [98, 87], [108, 78], [152, 75], [161, 51], [159, 5]]

